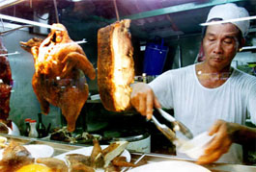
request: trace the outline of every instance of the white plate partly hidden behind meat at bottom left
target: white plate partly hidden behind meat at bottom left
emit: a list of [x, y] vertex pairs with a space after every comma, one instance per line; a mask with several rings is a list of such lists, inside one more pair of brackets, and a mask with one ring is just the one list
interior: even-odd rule
[[[30, 144], [24, 145], [24, 147], [30, 152], [31, 156], [35, 159], [48, 158], [54, 153], [54, 149], [51, 146], [43, 144]], [[4, 149], [0, 150], [0, 160], [2, 160]]]

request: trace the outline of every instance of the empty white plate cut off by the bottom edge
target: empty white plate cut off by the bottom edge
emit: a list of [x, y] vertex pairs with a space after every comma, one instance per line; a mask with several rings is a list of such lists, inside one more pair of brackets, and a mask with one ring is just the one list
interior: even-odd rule
[[146, 165], [142, 165], [129, 170], [129, 172], [211, 172], [209, 169], [200, 166], [198, 164], [181, 161], [181, 160], [169, 160], [153, 162]]

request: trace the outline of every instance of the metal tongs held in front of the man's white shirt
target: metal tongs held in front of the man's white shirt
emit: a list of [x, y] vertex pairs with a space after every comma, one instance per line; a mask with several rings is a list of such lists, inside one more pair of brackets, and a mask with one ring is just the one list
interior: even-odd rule
[[173, 141], [177, 146], [181, 145], [183, 140], [178, 138], [175, 134], [175, 132], [178, 132], [178, 131], [180, 131], [188, 139], [193, 138], [192, 133], [189, 131], [189, 129], [187, 127], [185, 127], [185, 125], [182, 122], [177, 121], [171, 114], [167, 113], [166, 111], [163, 111], [159, 108], [156, 110], [159, 111], [159, 113], [162, 115], [162, 117], [164, 117], [166, 120], [168, 120], [169, 122], [171, 122], [174, 125], [174, 128], [173, 128], [174, 131], [172, 131], [165, 124], [159, 123], [154, 115], [152, 116], [152, 120], [155, 123], [156, 128], [163, 135], [165, 135], [169, 140]]

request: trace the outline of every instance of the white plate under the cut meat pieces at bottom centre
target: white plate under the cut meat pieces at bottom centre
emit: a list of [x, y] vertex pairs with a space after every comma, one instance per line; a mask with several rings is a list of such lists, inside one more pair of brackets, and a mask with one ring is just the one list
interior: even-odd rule
[[[108, 145], [101, 145], [100, 147], [101, 147], [101, 149], [104, 149], [107, 146]], [[76, 149], [76, 150], [69, 151], [69, 152], [66, 152], [64, 154], [58, 155], [54, 158], [66, 161], [65, 156], [69, 155], [69, 154], [81, 154], [81, 155], [84, 155], [84, 156], [91, 156], [93, 148], [94, 148], [94, 146], [84, 147], [84, 148], [81, 148], [81, 149]], [[125, 149], [125, 151], [120, 156], [126, 157], [128, 162], [130, 161], [130, 154], [129, 154], [128, 150]], [[97, 171], [101, 171], [101, 169], [97, 169]]]

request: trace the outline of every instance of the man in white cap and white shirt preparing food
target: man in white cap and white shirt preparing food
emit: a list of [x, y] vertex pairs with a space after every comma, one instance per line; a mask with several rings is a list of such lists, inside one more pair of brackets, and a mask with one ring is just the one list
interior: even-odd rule
[[[213, 7], [207, 22], [245, 16], [245, 9], [231, 3]], [[203, 37], [205, 61], [132, 86], [131, 104], [148, 119], [153, 107], [173, 108], [193, 135], [215, 134], [199, 164], [241, 163], [242, 145], [255, 148], [256, 130], [244, 123], [246, 113], [256, 122], [256, 78], [231, 67], [248, 28], [248, 20], [210, 25]]]

